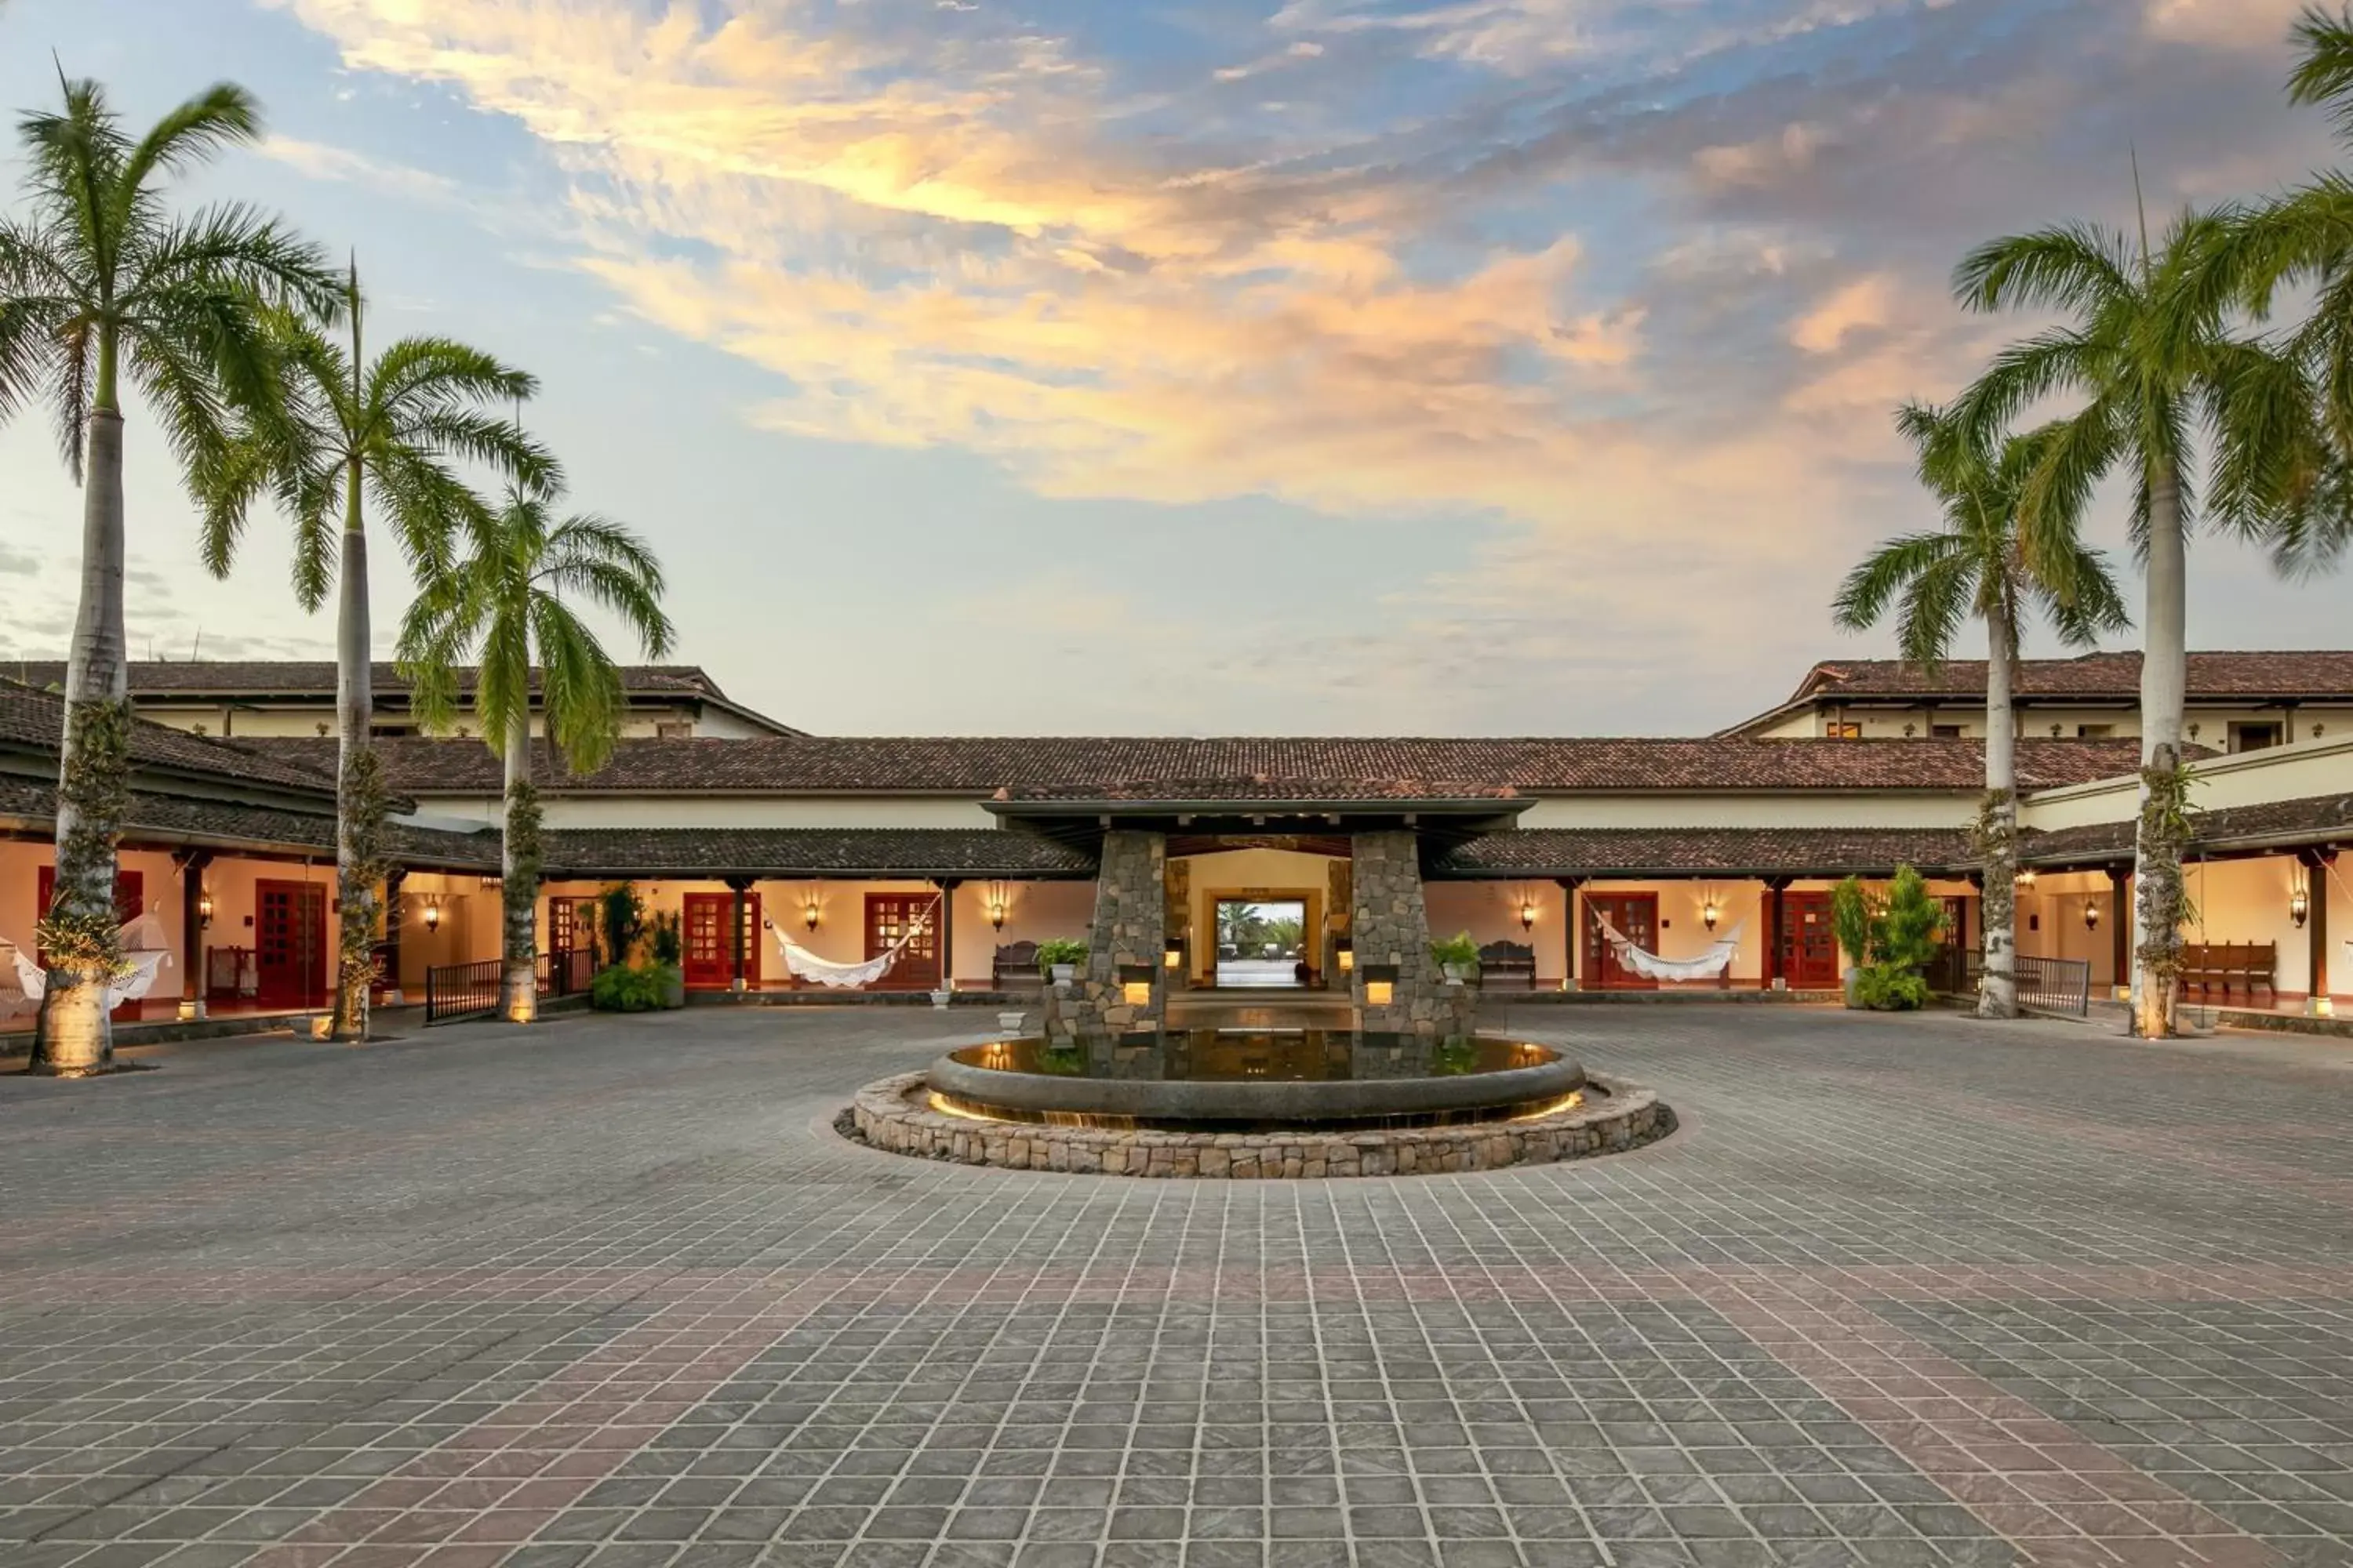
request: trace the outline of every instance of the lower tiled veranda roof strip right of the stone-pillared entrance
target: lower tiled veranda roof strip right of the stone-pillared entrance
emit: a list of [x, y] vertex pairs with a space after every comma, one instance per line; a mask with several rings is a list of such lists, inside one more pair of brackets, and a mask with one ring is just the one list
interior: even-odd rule
[[1522, 827], [1447, 851], [1438, 877], [1885, 877], [1972, 858], [1948, 827]]

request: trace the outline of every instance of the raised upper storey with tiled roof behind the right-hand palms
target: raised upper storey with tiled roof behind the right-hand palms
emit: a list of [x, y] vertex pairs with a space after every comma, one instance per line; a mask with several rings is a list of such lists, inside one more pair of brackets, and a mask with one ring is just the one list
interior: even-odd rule
[[[2252, 752], [2353, 731], [2353, 654], [2191, 654], [2188, 741]], [[2021, 736], [2111, 741], [2141, 733], [2141, 656], [2026, 658], [2012, 698]], [[1798, 691], [1722, 731], [1772, 741], [1981, 741], [1986, 661], [1920, 670], [1899, 658], [1835, 658]]]

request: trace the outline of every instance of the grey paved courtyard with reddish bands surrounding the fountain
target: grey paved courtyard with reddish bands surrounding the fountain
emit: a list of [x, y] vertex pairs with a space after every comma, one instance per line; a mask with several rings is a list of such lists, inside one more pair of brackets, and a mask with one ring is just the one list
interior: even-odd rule
[[840, 1143], [984, 1013], [0, 1079], [0, 1566], [2353, 1563], [2353, 1048], [1525, 1009], [1499, 1175]]

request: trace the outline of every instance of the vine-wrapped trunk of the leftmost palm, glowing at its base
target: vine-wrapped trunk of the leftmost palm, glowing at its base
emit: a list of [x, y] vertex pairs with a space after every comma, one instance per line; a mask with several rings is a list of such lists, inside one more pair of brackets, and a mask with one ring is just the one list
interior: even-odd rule
[[[82, 597], [66, 661], [66, 733], [56, 757], [56, 889], [45, 914], [89, 929], [115, 919], [115, 839], [122, 832], [122, 776], [129, 668], [122, 649], [122, 416], [115, 411], [113, 343], [99, 346], [99, 393], [82, 456]], [[56, 954], [52, 954], [54, 961]], [[33, 1030], [33, 1070], [61, 1077], [104, 1072], [115, 1034], [106, 1009], [108, 973], [49, 969]]]

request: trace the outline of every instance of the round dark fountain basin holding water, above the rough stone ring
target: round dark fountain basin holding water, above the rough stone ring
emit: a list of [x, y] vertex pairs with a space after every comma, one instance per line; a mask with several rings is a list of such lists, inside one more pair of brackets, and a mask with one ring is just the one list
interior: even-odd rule
[[946, 1114], [1212, 1133], [1452, 1126], [1588, 1093], [1579, 1063], [1529, 1041], [1247, 1027], [988, 1041], [925, 1081]]

